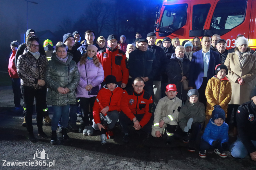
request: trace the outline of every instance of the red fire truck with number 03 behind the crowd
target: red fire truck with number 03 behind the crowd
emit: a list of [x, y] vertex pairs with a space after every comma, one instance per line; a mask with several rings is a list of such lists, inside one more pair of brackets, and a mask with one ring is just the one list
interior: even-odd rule
[[[255, 0], [164, 0], [156, 12], [158, 40], [178, 37], [184, 40], [219, 34], [227, 49], [235, 47], [238, 34], [256, 48]], [[157, 41], [158, 41], [157, 40]]]

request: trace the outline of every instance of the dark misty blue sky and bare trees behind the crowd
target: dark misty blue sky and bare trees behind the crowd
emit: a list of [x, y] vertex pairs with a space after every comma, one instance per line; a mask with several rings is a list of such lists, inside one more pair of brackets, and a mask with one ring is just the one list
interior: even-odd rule
[[[161, 0], [31, 0], [38, 4], [28, 3], [28, 29], [37, 32], [49, 30], [53, 44], [63, 40], [63, 35], [93, 30], [95, 39], [116, 34], [126, 36], [129, 43], [134, 42], [135, 33], [154, 31], [156, 6]], [[10, 43], [18, 40], [24, 42], [27, 30], [27, 2], [24, 0], [0, 1], [0, 70], [7, 71], [10, 56]], [[39, 37], [40, 39], [40, 37]], [[46, 39], [40, 39], [40, 43]]]

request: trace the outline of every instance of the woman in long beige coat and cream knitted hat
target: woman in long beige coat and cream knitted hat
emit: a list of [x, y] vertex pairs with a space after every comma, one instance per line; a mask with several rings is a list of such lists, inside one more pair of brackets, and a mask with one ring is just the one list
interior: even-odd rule
[[240, 37], [235, 42], [235, 52], [229, 53], [225, 60], [228, 67], [227, 78], [231, 81], [232, 97], [228, 105], [228, 115], [226, 123], [229, 120], [234, 109], [234, 136], [236, 136], [236, 113], [239, 105], [250, 100], [250, 93], [255, 86], [256, 76], [256, 56], [251, 54], [251, 48], [248, 47], [248, 40]]

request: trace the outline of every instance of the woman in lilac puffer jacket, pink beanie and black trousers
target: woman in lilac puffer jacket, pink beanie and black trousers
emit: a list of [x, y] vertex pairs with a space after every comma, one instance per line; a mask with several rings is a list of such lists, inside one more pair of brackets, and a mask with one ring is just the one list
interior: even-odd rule
[[[80, 122], [85, 126], [83, 130], [83, 135], [92, 135], [93, 129], [92, 125], [92, 107], [94, 101], [96, 100], [95, 95], [89, 95], [88, 92], [93, 87], [99, 87], [101, 89], [100, 83], [104, 80], [103, 68], [96, 56], [98, 48], [94, 45], [89, 45], [87, 51], [81, 57], [78, 62], [78, 70], [80, 72], [80, 82], [77, 87], [77, 98], [80, 98], [80, 105], [82, 108], [82, 121]], [[89, 104], [90, 104], [90, 121], [89, 121]]]

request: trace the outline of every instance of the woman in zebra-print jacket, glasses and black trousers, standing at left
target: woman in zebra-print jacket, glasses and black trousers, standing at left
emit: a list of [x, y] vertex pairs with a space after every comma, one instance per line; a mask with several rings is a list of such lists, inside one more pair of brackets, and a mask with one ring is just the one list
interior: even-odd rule
[[26, 53], [18, 57], [17, 72], [19, 78], [21, 79], [28, 139], [31, 142], [36, 142], [32, 126], [34, 98], [36, 98], [36, 120], [38, 135], [42, 138], [47, 137], [42, 128], [42, 118], [44, 115], [43, 109], [44, 103], [46, 101], [46, 87], [44, 77], [47, 59], [45, 55], [41, 55], [38, 51], [39, 39], [37, 37], [29, 37], [26, 41], [26, 45]]

